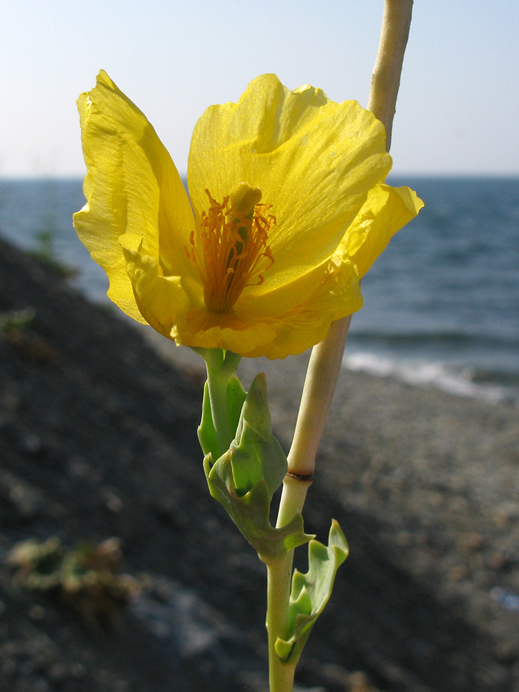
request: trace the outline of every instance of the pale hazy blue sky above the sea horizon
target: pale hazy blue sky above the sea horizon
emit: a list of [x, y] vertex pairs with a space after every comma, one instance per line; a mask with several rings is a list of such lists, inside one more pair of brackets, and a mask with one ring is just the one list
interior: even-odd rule
[[[19, 0], [0, 23], [0, 176], [82, 176], [75, 100], [105, 69], [180, 172], [194, 123], [255, 76], [367, 104], [382, 0]], [[415, 0], [397, 174], [519, 174], [519, 3]]]

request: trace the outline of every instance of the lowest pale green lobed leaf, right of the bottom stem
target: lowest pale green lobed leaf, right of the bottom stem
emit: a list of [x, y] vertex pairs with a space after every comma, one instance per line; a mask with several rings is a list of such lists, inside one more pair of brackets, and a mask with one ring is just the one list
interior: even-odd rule
[[328, 546], [311, 540], [308, 545], [306, 574], [295, 570], [289, 604], [289, 637], [278, 638], [277, 655], [284, 663], [295, 664], [316, 619], [325, 609], [334, 586], [338, 567], [347, 558], [349, 547], [336, 520], [332, 520]]

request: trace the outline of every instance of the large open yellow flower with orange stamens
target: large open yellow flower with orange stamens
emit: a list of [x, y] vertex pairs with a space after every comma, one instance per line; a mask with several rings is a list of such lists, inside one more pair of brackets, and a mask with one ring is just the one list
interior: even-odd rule
[[194, 128], [188, 188], [101, 72], [80, 96], [86, 205], [75, 228], [109, 298], [176, 343], [284, 358], [362, 306], [359, 279], [422, 203], [383, 183], [383, 125], [275, 75]]

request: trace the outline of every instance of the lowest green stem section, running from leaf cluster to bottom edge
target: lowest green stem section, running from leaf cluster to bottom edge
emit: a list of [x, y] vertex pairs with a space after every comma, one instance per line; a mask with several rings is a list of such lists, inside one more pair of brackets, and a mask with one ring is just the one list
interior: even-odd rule
[[268, 682], [270, 692], [292, 692], [295, 663], [280, 661], [275, 650], [277, 637], [286, 639], [289, 625], [289, 597], [291, 588], [293, 551], [283, 559], [266, 566], [268, 632]]

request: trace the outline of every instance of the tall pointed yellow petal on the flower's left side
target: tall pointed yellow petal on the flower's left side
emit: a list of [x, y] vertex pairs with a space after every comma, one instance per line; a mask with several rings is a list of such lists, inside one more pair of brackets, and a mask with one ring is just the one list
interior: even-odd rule
[[86, 205], [74, 215], [82, 242], [109, 277], [109, 298], [143, 322], [118, 239], [136, 233], [167, 273], [192, 271], [183, 244], [190, 203], [170, 155], [143, 113], [101, 71], [78, 100], [87, 174]]

